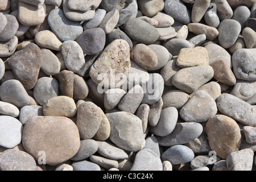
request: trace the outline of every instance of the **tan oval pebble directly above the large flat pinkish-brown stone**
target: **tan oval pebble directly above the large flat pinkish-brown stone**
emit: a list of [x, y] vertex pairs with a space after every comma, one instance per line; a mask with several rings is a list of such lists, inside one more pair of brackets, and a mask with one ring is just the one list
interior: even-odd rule
[[77, 108], [73, 98], [56, 96], [46, 101], [43, 112], [48, 116], [73, 117], [77, 113]]

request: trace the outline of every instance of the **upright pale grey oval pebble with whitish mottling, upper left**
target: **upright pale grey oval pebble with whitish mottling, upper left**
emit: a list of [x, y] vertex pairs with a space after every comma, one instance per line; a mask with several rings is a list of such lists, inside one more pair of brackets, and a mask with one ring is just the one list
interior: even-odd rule
[[61, 52], [69, 71], [77, 72], [85, 64], [84, 52], [77, 42], [73, 40], [65, 41], [61, 47]]

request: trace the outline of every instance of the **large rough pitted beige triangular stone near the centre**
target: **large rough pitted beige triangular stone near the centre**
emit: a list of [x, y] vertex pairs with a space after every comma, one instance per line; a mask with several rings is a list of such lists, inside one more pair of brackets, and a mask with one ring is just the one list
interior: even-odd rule
[[89, 75], [96, 84], [101, 83], [106, 88], [115, 88], [126, 81], [124, 77], [128, 77], [130, 67], [130, 46], [126, 40], [116, 39], [93, 63]]

